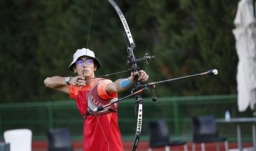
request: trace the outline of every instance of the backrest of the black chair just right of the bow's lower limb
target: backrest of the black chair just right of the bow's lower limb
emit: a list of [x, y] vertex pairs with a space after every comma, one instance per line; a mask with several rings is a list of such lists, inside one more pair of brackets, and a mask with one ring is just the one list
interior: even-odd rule
[[169, 130], [164, 119], [148, 122], [150, 147], [169, 144]]

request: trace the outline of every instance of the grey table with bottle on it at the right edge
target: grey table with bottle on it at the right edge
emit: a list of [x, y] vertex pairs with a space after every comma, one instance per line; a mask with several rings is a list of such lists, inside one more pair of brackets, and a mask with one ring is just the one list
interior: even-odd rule
[[215, 121], [216, 123], [236, 123], [237, 145], [239, 151], [243, 151], [241, 123], [252, 123], [253, 150], [256, 151], [256, 117], [230, 118], [228, 120], [216, 119]]

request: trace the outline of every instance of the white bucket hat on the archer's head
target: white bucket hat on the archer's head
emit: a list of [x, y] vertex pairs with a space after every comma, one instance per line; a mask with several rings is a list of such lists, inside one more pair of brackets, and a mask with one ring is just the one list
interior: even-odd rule
[[98, 70], [98, 69], [100, 68], [100, 61], [99, 61], [97, 58], [95, 58], [94, 52], [91, 51], [90, 49], [85, 49], [85, 48], [83, 48], [83, 49], [78, 49], [78, 50], [76, 50], [76, 52], [74, 53], [73, 61], [72, 61], [72, 63], [71, 63], [71, 64], [69, 65], [69, 67], [68, 67], [69, 70], [73, 71], [73, 65], [74, 65], [75, 61], [76, 61], [79, 57], [81, 57], [81, 56], [92, 57], [94, 63], [97, 65], [97, 69], [96, 69], [96, 70]]

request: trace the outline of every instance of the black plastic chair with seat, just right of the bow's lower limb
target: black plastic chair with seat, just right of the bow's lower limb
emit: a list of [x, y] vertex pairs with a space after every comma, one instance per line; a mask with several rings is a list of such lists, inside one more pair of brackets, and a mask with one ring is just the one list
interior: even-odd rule
[[150, 144], [148, 151], [155, 147], [165, 147], [165, 151], [170, 150], [170, 146], [184, 145], [184, 151], [188, 151], [186, 141], [170, 141], [169, 130], [164, 119], [148, 122]]

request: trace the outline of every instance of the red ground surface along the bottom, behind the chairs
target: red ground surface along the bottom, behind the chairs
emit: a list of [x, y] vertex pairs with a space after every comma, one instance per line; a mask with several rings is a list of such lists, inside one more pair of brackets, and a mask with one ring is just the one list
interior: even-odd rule
[[[74, 149], [83, 148], [83, 141], [73, 141]], [[125, 151], [130, 151], [133, 142], [123, 142]], [[136, 151], [147, 151], [149, 143], [147, 141], [140, 141]], [[252, 147], [252, 143], [243, 143], [243, 147]], [[229, 149], [237, 148], [236, 143], [228, 143]], [[183, 146], [171, 147], [171, 151], [183, 151]], [[47, 141], [32, 141], [32, 151], [47, 151]], [[152, 151], [164, 151], [164, 147], [154, 148]], [[192, 151], [192, 143], [188, 142], [188, 151]], [[201, 145], [196, 145], [196, 151], [201, 151]], [[216, 143], [205, 143], [205, 151], [216, 151]], [[220, 151], [225, 151], [224, 143], [220, 143]]]

